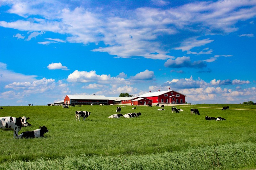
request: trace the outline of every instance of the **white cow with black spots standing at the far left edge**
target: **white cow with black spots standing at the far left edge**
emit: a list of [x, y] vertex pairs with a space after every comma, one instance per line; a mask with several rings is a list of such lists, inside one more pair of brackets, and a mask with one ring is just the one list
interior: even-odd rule
[[27, 120], [25, 116], [21, 117], [0, 117], [0, 129], [2, 130], [12, 130], [13, 131], [13, 137], [18, 136], [18, 132], [22, 127], [28, 126]]

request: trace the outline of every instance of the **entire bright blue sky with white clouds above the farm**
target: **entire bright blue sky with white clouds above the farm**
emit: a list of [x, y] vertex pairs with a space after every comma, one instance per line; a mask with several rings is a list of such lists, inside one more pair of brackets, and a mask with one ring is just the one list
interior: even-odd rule
[[0, 0], [0, 106], [169, 87], [256, 102], [255, 36], [255, 0]]

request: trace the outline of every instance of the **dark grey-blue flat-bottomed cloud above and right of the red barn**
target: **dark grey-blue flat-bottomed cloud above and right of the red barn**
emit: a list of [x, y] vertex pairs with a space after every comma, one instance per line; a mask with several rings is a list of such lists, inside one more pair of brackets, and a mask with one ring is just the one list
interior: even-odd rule
[[203, 68], [206, 67], [206, 63], [203, 61], [191, 62], [190, 57], [177, 57], [175, 60], [169, 59], [164, 63], [165, 67], [170, 68], [182, 68], [182, 67], [192, 67], [192, 68]]

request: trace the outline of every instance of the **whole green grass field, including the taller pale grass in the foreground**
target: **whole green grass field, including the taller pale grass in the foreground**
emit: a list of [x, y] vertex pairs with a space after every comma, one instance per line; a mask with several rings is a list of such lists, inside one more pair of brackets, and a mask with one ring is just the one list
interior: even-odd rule
[[[156, 106], [140, 106], [135, 110], [132, 110], [133, 106], [126, 106], [121, 107], [123, 115], [141, 112], [141, 116], [109, 119], [108, 116], [116, 114], [116, 107], [98, 105], [69, 107], [69, 109], [63, 109], [62, 106], [3, 107], [0, 110], [1, 117], [30, 117], [28, 122], [32, 127], [23, 127], [19, 134], [38, 129], [39, 126], [46, 126], [49, 132], [44, 135], [45, 138], [14, 139], [13, 131], [0, 130], [2, 153], [0, 169], [256, 167], [255, 110], [234, 110], [231, 106], [230, 110], [222, 111], [218, 109], [222, 108], [221, 106], [210, 108], [209, 105], [208, 107], [184, 105], [177, 106], [183, 109], [183, 112], [172, 113], [170, 106], [164, 107], [164, 111], [157, 111], [160, 107]], [[190, 108], [197, 107], [200, 115], [190, 116]], [[76, 110], [89, 111], [91, 115], [85, 121], [81, 119], [80, 122], [76, 122], [74, 118]], [[206, 115], [220, 116], [227, 121], [206, 121], [204, 119]], [[218, 154], [223, 152], [225, 155], [223, 157], [229, 158], [229, 164], [220, 163], [221, 160], [216, 157], [218, 149], [222, 149]], [[238, 156], [240, 153], [241, 158]], [[187, 159], [190, 162], [184, 161]], [[200, 159], [203, 159], [203, 162], [200, 162]], [[128, 160], [130, 162], [127, 162]], [[157, 162], [154, 163], [153, 160]], [[167, 160], [167, 163], [164, 164], [164, 160]], [[129, 164], [134, 161], [136, 166]], [[164, 164], [163, 167], [161, 163]], [[175, 168], [174, 164], [178, 166]]]

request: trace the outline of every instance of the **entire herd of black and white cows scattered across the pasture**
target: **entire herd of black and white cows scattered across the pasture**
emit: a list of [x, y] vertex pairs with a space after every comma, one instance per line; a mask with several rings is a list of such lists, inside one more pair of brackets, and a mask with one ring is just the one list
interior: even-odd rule
[[[64, 105], [64, 106], [67, 106], [67, 105]], [[63, 107], [64, 107], [63, 106]], [[92, 106], [92, 105], [91, 105]], [[152, 107], [152, 105], [147, 105], [147, 107]], [[158, 107], [159, 104], [157, 105]], [[67, 106], [68, 107], [68, 106]], [[158, 111], [163, 111], [164, 109], [164, 105], [161, 106], [162, 108], [160, 109], [157, 109]], [[132, 109], [136, 109], [136, 107], [133, 107]], [[226, 110], [228, 109], [229, 110], [229, 106], [224, 106], [222, 108], [222, 110]], [[183, 111], [182, 109], [178, 109], [177, 107], [173, 106], [172, 107], [172, 113], [173, 112], [176, 112], [176, 113], [179, 113], [180, 111]], [[80, 121], [80, 117], [83, 117], [84, 120], [85, 118], [87, 118], [89, 115], [90, 115], [91, 112], [88, 112], [88, 111], [76, 111], [75, 113], [75, 118], [76, 118], [76, 121], [77, 121], [77, 118], [78, 120]], [[116, 113], [119, 113], [119, 114], [114, 114], [114, 115], [111, 115], [109, 116], [108, 118], [120, 118], [120, 117], [124, 117], [124, 118], [133, 118], [133, 117], [138, 117], [141, 115], [141, 113], [127, 113], [125, 115], [122, 115], [121, 114], [121, 107], [117, 107], [116, 108]], [[199, 110], [196, 109], [196, 108], [191, 108], [190, 109], [190, 115], [193, 115], [193, 113], [195, 115], [200, 115], [199, 114]], [[48, 132], [48, 129], [43, 126], [39, 126], [39, 129], [36, 129], [36, 130], [33, 130], [33, 131], [25, 131], [25, 132], [22, 132], [20, 135], [18, 135], [18, 132], [20, 131], [20, 129], [22, 127], [27, 127], [27, 126], [31, 126], [30, 123], [27, 122], [27, 120], [29, 119], [29, 117], [10, 117], [10, 116], [6, 116], [6, 117], [0, 117], [0, 129], [2, 130], [12, 130], [13, 131], [13, 137], [15, 138], [35, 138], [35, 137], [44, 137], [44, 134], [46, 132]], [[209, 117], [209, 116], [205, 116], [205, 120], [215, 120], [215, 121], [222, 121], [222, 120], [226, 120], [225, 118], [222, 118], [222, 117]]]

